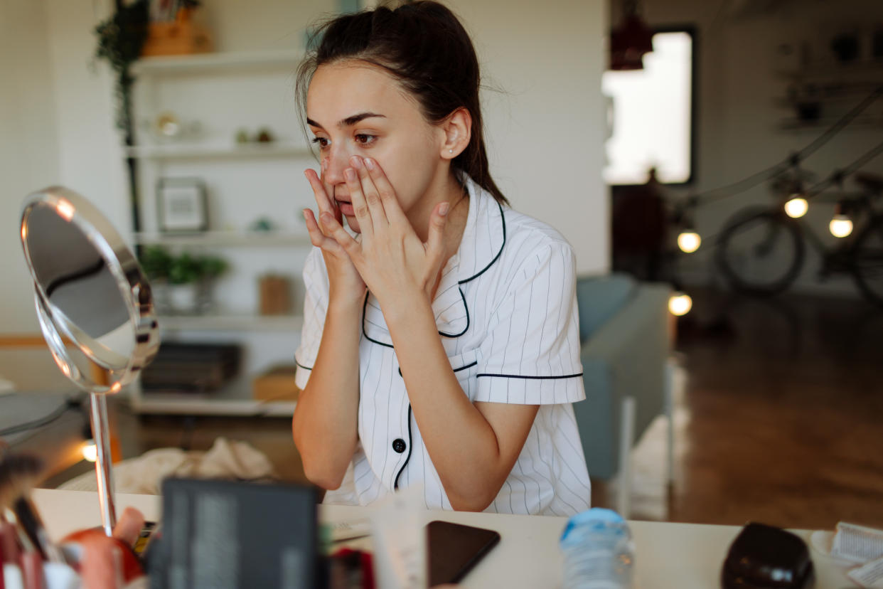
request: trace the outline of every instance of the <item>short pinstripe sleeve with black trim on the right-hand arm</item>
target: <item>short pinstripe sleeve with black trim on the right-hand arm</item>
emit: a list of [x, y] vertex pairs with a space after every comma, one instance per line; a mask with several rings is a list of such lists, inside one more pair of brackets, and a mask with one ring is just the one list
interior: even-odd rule
[[585, 399], [575, 263], [566, 243], [531, 253], [505, 290], [479, 345], [478, 393], [488, 403]]

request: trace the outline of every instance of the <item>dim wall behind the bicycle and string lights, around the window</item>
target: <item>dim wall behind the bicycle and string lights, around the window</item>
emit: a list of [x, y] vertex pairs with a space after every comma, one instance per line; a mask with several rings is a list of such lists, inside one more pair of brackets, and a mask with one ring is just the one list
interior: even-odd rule
[[[879, 0], [782, 3], [777, 11], [743, 17], [721, 10], [721, 3], [703, 0], [653, 0], [642, 4], [645, 17], [653, 26], [698, 26], [698, 166], [695, 170], [698, 192], [740, 180], [780, 162], [825, 130], [819, 127], [795, 132], [777, 128], [782, 117], [793, 116], [788, 109], [774, 104], [775, 98], [784, 96], [786, 85], [774, 74], [777, 45], [806, 39], [814, 42], [814, 49], [819, 51], [826, 49], [830, 37], [841, 30], [856, 26], [866, 32], [870, 26], [883, 21], [883, 3]], [[618, 9], [612, 19], [618, 22]], [[879, 74], [876, 79], [877, 83], [883, 81]], [[862, 97], [857, 96], [854, 103]], [[881, 111], [883, 101], [879, 100], [866, 112], [879, 115]], [[852, 125], [803, 165], [819, 173], [821, 178], [827, 177], [834, 168], [853, 162], [880, 139], [879, 127]], [[883, 172], [883, 157], [870, 162], [866, 170]], [[850, 187], [849, 181], [847, 187]], [[759, 185], [740, 196], [700, 208], [697, 215], [700, 234], [713, 236], [729, 215], [750, 203], [772, 206], [774, 200], [766, 185]], [[827, 230], [832, 214], [833, 205], [812, 203], [807, 215], [813, 230], [829, 243], [834, 242]], [[706, 242], [706, 245], [711, 244]], [[688, 282], [713, 279], [713, 248], [706, 245], [693, 257], [682, 258]], [[796, 288], [855, 294], [845, 277], [819, 284], [818, 267], [818, 256], [808, 250], [804, 273]]]

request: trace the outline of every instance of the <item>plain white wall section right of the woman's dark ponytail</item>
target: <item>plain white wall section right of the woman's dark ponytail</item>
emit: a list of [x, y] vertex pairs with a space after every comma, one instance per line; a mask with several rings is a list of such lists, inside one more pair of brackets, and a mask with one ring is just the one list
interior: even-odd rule
[[484, 83], [491, 173], [514, 208], [560, 230], [577, 272], [609, 268], [600, 77], [607, 3], [456, 0]]

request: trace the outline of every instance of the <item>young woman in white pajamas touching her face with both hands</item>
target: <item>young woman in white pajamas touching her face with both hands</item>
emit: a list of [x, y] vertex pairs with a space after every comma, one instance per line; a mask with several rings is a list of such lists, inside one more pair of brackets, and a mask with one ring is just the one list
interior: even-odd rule
[[434, 2], [321, 34], [298, 75], [321, 155], [292, 423], [307, 477], [325, 502], [421, 485], [430, 509], [588, 509], [574, 253], [487, 170], [468, 34]]

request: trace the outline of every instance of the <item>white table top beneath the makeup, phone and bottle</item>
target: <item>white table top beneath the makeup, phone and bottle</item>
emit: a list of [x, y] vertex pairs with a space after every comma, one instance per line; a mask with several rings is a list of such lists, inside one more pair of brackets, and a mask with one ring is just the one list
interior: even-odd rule
[[[52, 538], [73, 530], [101, 524], [97, 495], [83, 491], [35, 489], [34, 502], [42, 513]], [[117, 513], [134, 507], [148, 520], [160, 517], [160, 497], [117, 495]], [[322, 505], [325, 522], [366, 517], [370, 508]], [[562, 554], [558, 539], [565, 517], [510, 516], [490, 513], [427, 511], [426, 522], [444, 519], [500, 532], [497, 547], [470, 572], [462, 585], [536, 589], [559, 587], [562, 582]], [[669, 524], [629, 522], [636, 546], [635, 589], [714, 589], [721, 586], [721, 563], [730, 542], [741, 528], [733, 525]], [[796, 530], [810, 544], [810, 532]], [[353, 543], [358, 546], [357, 542]], [[815, 589], [856, 587], [846, 577], [848, 565], [811, 548], [816, 566]]]

